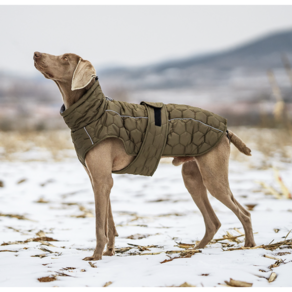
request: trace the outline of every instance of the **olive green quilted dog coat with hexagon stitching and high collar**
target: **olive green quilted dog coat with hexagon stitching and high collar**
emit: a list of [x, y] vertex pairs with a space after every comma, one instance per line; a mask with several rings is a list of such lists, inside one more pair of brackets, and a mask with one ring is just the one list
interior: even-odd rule
[[135, 159], [113, 173], [152, 176], [161, 156], [198, 156], [225, 135], [227, 121], [209, 111], [179, 104], [111, 100], [98, 81], [70, 108], [60, 111], [85, 166], [87, 152], [106, 138], [123, 141]]

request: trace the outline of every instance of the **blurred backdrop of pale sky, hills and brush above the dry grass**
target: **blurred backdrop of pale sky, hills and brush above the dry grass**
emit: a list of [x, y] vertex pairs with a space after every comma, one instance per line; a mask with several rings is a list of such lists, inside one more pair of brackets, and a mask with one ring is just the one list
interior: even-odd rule
[[1, 12], [1, 135], [66, 129], [56, 84], [34, 68], [33, 52], [40, 51], [89, 60], [113, 99], [189, 104], [226, 117], [231, 127], [285, 129], [291, 136], [291, 6], [1, 6]]

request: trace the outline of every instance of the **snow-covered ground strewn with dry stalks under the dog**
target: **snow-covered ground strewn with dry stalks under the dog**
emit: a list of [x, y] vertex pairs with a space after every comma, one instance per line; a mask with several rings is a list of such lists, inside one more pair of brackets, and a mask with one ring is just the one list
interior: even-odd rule
[[[278, 168], [291, 190], [292, 165], [279, 162]], [[195, 243], [205, 232], [203, 218], [184, 187], [180, 167], [169, 163], [161, 163], [152, 178], [114, 175], [111, 202], [119, 233], [117, 253], [91, 264], [82, 259], [91, 256], [95, 247], [93, 192], [76, 158], [61, 162], [1, 161], [0, 181], [2, 287], [179, 286], [185, 282], [220, 287], [230, 278], [252, 283], [253, 287], [292, 286], [291, 246], [274, 251], [225, 251], [243, 245], [243, 237], [238, 237], [239, 242], [210, 243], [191, 257], [167, 253], [184, 251], [178, 243]], [[292, 200], [265, 194], [256, 181], [276, 187], [271, 168], [230, 162], [230, 184], [236, 199], [243, 206], [255, 205], [250, 212], [257, 245], [283, 241], [292, 229]], [[215, 239], [227, 232], [240, 235], [243, 228], [237, 217], [209, 197], [222, 223]], [[44, 236], [57, 241], [40, 238]], [[42, 241], [27, 241], [32, 238]], [[287, 239], [291, 238], [292, 232]], [[143, 250], [145, 246], [150, 247]], [[127, 247], [131, 249], [123, 249]], [[171, 258], [175, 259], [165, 261]], [[277, 259], [283, 261], [271, 267]], [[277, 278], [269, 283], [272, 272]], [[54, 281], [40, 282], [43, 277]]]

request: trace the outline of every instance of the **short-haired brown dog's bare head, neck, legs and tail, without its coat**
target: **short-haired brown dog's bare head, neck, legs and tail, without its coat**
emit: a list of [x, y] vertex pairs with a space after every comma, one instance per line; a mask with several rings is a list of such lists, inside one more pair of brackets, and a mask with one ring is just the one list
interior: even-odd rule
[[[35, 52], [33, 60], [35, 68], [57, 84], [63, 98], [64, 113], [70, 111], [97, 82], [92, 64], [76, 54], [54, 56]], [[84, 128], [87, 132], [86, 127]], [[90, 135], [89, 138], [92, 140]], [[245, 143], [229, 130], [215, 147], [202, 155], [173, 157], [173, 165], [183, 164], [184, 184], [204, 218], [206, 232], [196, 245], [197, 249], [204, 248], [221, 226], [208, 200], [207, 190], [238, 217], [245, 232], [245, 247], [256, 245], [250, 213], [237, 202], [229, 187], [230, 142], [245, 155], [251, 155], [251, 150]], [[96, 247], [93, 255], [84, 260], [101, 260], [103, 255], [115, 254], [115, 236], [118, 236], [118, 233], [110, 203], [112, 172], [127, 168], [135, 158], [127, 153], [121, 139], [115, 137], [108, 137], [92, 145], [86, 153], [83, 165], [90, 178], [95, 198]], [[104, 251], [105, 246], [107, 247]]]

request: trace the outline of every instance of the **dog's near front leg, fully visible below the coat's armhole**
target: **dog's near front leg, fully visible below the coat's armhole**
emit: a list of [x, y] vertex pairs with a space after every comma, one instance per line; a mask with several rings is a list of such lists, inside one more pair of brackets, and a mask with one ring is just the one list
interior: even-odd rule
[[[93, 149], [95, 150], [95, 149]], [[109, 197], [113, 187], [111, 161], [107, 153], [89, 152], [86, 157], [87, 171], [91, 179], [95, 199], [96, 248], [92, 257], [84, 260], [101, 260], [108, 242]]]

